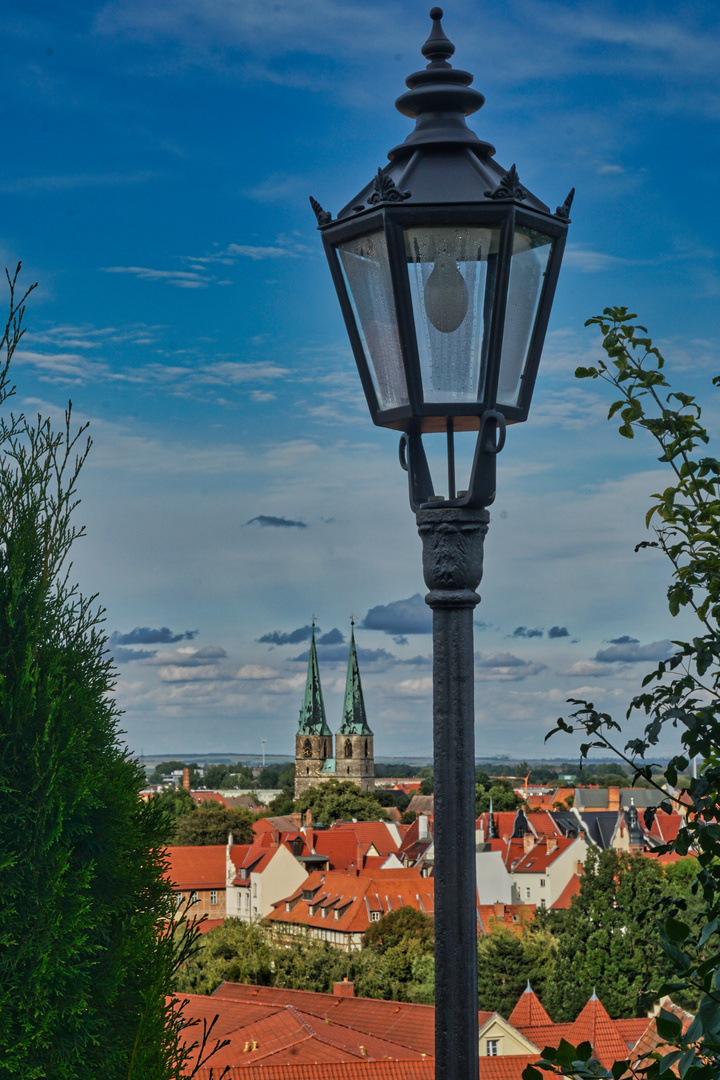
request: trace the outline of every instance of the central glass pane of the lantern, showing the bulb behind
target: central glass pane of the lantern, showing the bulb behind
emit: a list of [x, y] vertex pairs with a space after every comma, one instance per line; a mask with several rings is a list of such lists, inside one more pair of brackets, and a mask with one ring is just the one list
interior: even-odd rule
[[478, 402], [485, 393], [499, 228], [405, 230], [425, 402]]

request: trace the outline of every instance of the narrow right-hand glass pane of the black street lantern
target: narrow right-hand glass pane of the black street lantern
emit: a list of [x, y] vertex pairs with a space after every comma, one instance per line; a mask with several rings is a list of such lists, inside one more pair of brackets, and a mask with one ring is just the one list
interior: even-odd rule
[[551, 237], [516, 227], [498, 380], [499, 405], [518, 403], [552, 247]]

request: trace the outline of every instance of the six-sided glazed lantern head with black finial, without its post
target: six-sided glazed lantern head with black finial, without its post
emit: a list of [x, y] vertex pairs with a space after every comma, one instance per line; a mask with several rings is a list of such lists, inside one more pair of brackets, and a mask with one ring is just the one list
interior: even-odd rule
[[430, 14], [427, 66], [395, 103], [415, 130], [337, 218], [311, 199], [372, 420], [416, 459], [415, 502], [431, 498], [423, 433], [479, 430], [487, 455], [527, 419], [574, 193], [553, 213], [468, 129], [485, 98]]

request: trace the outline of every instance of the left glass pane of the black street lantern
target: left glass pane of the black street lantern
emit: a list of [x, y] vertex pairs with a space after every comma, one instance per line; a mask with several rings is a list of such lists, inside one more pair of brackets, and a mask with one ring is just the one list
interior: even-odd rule
[[403, 351], [382, 229], [338, 244], [340, 266], [381, 409], [407, 405]]

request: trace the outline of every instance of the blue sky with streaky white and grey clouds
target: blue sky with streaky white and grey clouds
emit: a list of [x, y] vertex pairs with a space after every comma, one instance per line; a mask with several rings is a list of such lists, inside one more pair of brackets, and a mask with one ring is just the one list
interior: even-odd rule
[[[429, 6], [3, 8], [0, 254], [39, 282], [18, 399], [91, 421], [74, 568], [138, 752], [290, 753], [313, 615], [336, 728], [355, 615], [376, 752], [431, 753], [396, 435], [369, 421], [308, 203], [337, 212], [409, 132], [393, 103]], [[565, 699], [624, 713], [689, 630], [661, 557], [633, 552], [661, 467], [572, 373], [585, 319], [627, 305], [717, 432], [720, 26], [709, 3], [602, 0], [459, 0], [444, 26], [499, 162], [551, 205], [578, 191], [476, 617], [478, 753], [565, 755], [543, 750]]]

